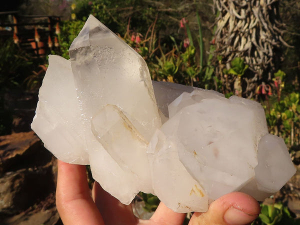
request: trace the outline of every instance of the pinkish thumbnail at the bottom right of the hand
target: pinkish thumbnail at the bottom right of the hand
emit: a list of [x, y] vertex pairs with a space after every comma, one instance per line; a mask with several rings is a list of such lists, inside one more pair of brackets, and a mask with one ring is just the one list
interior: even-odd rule
[[239, 209], [230, 207], [224, 214], [224, 220], [230, 225], [243, 225], [252, 222], [256, 218], [255, 215], [247, 214]]

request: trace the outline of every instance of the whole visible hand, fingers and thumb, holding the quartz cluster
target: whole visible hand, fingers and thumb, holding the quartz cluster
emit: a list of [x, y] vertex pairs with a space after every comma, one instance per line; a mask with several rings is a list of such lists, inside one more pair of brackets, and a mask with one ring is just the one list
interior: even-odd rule
[[[56, 207], [63, 224], [182, 224], [185, 213], [173, 212], [160, 202], [149, 220], [133, 215], [131, 205], [124, 205], [94, 182], [92, 196], [88, 188], [84, 165], [68, 164], [58, 160]], [[188, 224], [251, 223], [259, 214], [258, 202], [241, 193], [228, 193], [213, 201], [207, 212], [194, 212]]]

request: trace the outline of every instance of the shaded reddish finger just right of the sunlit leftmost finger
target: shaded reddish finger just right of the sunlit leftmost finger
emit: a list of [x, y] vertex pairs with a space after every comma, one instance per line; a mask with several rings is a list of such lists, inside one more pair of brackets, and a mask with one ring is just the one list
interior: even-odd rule
[[103, 217], [105, 225], [131, 225], [138, 222], [131, 205], [122, 204], [118, 199], [103, 190], [96, 181], [92, 187], [92, 198]]

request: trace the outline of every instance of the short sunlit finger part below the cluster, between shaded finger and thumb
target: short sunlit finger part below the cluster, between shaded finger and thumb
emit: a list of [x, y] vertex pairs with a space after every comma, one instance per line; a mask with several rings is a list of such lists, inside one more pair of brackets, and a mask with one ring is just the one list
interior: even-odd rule
[[164, 203], [160, 201], [157, 209], [155, 210], [154, 214], [150, 218], [150, 224], [157, 224], [157, 225], [181, 225], [185, 218], [185, 213], [178, 213], [174, 212], [173, 210], [169, 209]]

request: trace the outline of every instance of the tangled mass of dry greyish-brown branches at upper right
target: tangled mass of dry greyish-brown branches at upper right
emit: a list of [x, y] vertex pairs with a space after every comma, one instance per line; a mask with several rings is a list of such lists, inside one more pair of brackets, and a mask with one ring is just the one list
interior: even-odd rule
[[[276, 68], [277, 50], [283, 44], [283, 24], [279, 21], [279, 0], [213, 0], [219, 11], [216, 18], [215, 55], [222, 65], [241, 57], [253, 72], [244, 78], [245, 96], [255, 90], [257, 80], [270, 79]], [[221, 66], [220, 64], [220, 66]], [[221, 73], [218, 66], [216, 73]]]

